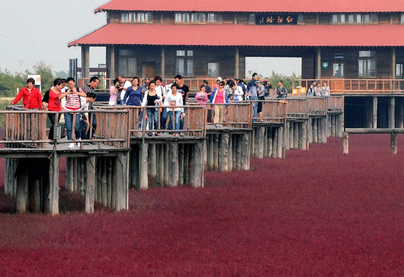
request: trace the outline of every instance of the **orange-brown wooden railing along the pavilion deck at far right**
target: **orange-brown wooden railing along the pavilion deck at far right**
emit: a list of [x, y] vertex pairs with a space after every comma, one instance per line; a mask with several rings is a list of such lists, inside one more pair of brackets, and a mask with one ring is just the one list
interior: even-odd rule
[[331, 94], [390, 94], [404, 93], [404, 80], [391, 79], [301, 79], [293, 80], [292, 86], [309, 88], [313, 81], [326, 81]]

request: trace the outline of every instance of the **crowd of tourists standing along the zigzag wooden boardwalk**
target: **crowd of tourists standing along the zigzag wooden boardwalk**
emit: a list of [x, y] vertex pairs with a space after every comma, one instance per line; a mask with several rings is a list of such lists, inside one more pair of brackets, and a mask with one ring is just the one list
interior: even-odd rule
[[[180, 130], [184, 129], [186, 120], [187, 103], [190, 88], [184, 84], [181, 75], [174, 77], [173, 84], [164, 84], [160, 76], [153, 79], [144, 78], [143, 85], [139, 77], [132, 78], [131, 82], [122, 75], [113, 80], [109, 88], [110, 98], [108, 104], [111, 106], [126, 105], [147, 107], [146, 113], [139, 108], [139, 128], [143, 122], [146, 124], [148, 136], [161, 136], [161, 131], [166, 130], [173, 136], [184, 136]], [[96, 99], [95, 88], [99, 84], [98, 77], [92, 77], [88, 84], [81, 87], [75, 85], [71, 77], [67, 79], [57, 78], [53, 86], [45, 92], [41, 92], [34, 86], [35, 80], [29, 78], [27, 86], [20, 90], [17, 97], [10, 102], [10, 105], [17, 104], [23, 99], [23, 107], [28, 109], [64, 111], [58, 118], [58, 124], [62, 125], [61, 138], [65, 137], [66, 126], [68, 140], [73, 139], [72, 129], [74, 124], [74, 139], [76, 145], [80, 146], [80, 140], [89, 139], [95, 134], [97, 120], [96, 113], [81, 112], [81, 110], [94, 109], [93, 102]], [[224, 115], [228, 112], [230, 103], [241, 103], [253, 101], [253, 122], [261, 121], [263, 100], [269, 97], [269, 89], [272, 88], [268, 79], [259, 80], [258, 74], [254, 73], [252, 79], [246, 83], [242, 79], [222, 79], [218, 77], [216, 83], [211, 87], [207, 80], [200, 85], [199, 91], [195, 94], [196, 105], [207, 107], [208, 121], [213, 122], [216, 128], [222, 128]], [[278, 82], [276, 87], [277, 99], [284, 99], [288, 90], [283, 81]], [[316, 97], [330, 95], [330, 88], [327, 82], [314, 81], [307, 90], [307, 96]], [[259, 101], [261, 100], [261, 101]], [[48, 138], [53, 140], [53, 125], [56, 121], [55, 113], [48, 113], [51, 127]], [[169, 120], [168, 120], [169, 118]], [[168, 126], [167, 126], [168, 121]], [[91, 126], [90, 126], [91, 125]], [[87, 143], [85, 143], [87, 144]], [[74, 148], [71, 143], [69, 149]]]

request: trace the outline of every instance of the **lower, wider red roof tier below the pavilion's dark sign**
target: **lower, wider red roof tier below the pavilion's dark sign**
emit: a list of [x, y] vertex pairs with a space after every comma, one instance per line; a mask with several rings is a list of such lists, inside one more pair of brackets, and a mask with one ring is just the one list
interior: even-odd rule
[[[117, 36], [127, 34], [127, 36]], [[143, 35], [142, 35], [143, 34]], [[155, 34], [144, 36], [144, 34]], [[213, 34], [222, 34], [213, 39]], [[229, 37], [234, 34], [234, 38]], [[240, 38], [244, 34], [244, 39]], [[249, 34], [255, 34], [254, 39]], [[264, 35], [268, 34], [268, 35]], [[278, 35], [276, 37], [269, 34]], [[314, 34], [318, 40], [310, 39]], [[181, 40], [174, 39], [182, 37]], [[107, 24], [68, 43], [207, 46], [404, 46], [404, 25]]]

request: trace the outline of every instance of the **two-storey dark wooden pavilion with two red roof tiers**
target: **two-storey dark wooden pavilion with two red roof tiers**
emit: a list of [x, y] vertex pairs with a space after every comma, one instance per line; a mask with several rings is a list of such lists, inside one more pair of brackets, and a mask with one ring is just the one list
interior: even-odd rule
[[[99, 12], [107, 23], [68, 43], [81, 47], [84, 78], [92, 46], [106, 47], [108, 78], [245, 78], [246, 57], [298, 57], [303, 80], [366, 94], [373, 109], [380, 93], [403, 93], [403, 1], [111, 0]], [[352, 126], [374, 122], [367, 113]]]

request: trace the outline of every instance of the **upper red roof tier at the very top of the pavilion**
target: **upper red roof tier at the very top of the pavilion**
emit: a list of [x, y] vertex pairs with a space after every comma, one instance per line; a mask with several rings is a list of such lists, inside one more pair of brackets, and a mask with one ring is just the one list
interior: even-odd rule
[[404, 12], [403, 0], [111, 0], [95, 9], [212, 12]]

